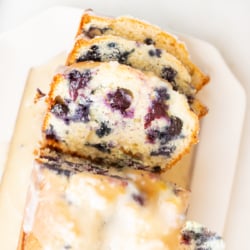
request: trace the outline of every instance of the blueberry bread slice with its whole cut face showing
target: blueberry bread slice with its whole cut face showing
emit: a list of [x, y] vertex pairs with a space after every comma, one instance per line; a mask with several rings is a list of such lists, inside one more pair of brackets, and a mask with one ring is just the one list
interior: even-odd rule
[[54, 77], [45, 145], [110, 165], [160, 171], [197, 142], [199, 119], [171, 84], [117, 62], [81, 62]]

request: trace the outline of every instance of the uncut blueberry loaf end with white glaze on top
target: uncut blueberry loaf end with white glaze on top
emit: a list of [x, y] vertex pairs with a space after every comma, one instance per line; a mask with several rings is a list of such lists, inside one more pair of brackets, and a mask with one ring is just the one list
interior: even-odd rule
[[100, 174], [76, 161], [84, 171], [61, 171], [52, 158], [35, 164], [20, 250], [177, 249], [189, 191], [146, 171]]

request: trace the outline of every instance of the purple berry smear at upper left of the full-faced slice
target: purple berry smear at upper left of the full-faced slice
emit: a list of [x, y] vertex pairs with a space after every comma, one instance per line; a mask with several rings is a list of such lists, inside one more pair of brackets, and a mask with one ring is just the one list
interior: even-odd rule
[[79, 89], [83, 89], [84, 87], [86, 87], [91, 78], [92, 74], [88, 69], [83, 71], [82, 73], [78, 70], [72, 70], [68, 74], [69, 94], [73, 101], [77, 99]]

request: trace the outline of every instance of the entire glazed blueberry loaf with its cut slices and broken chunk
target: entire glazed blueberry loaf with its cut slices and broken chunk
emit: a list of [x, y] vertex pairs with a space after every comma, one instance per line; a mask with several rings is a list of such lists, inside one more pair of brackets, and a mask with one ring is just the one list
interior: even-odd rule
[[20, 249], [224, 249], [161, 175], [198, 140], [207, 82], [160, 28], [85, 12], [51, 83]]

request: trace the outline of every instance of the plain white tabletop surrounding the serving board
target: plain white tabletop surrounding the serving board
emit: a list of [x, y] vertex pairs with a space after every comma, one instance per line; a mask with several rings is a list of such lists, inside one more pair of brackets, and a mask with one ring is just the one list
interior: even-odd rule
[[[163, 28], [206, 40], [219, 49], [247, 94], [247, 112], [241, 150], [235, 173], [231, 211], [228, 213], [224, 235], [227, 238], [227, 249], [250, 249], [249, 246], [247, 247], [249, 233], [246, 233], [250, 228], [250, 216], [245, 217], [246, 214], [250, 214], [250, 192], [248, 191], [250, 190], [250, 1], [0, 0], [0, 34], [14, 29], [30, 17], [55, 5], [92, 8], [98, 13], [111, 16], [129, 14]], [[232, 102], [234, 102], [233, 96]], [[232, 117], [233, 122], [234, 117]], [[237, 229], [234, 230], [235, 235], [230, 235], [231, 227]]]

